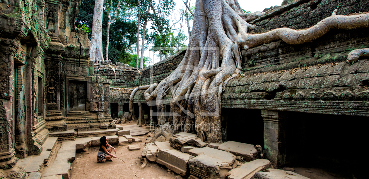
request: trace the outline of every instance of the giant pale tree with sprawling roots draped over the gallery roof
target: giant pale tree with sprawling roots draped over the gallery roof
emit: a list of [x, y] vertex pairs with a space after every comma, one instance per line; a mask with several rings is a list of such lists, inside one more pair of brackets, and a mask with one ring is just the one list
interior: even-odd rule
[[[247, 21], [260, 15], [259, 12], [245, 15], [237, 0], [196, 0], [193, 31], [182, 62], [159, 84], [133, 90], [131, 116], [134, 114], [135, 92], [146, 89], [146, 101], [156, 99], [158, 123], [164, 124], [163, 96], [170, 90], [170, 112], [176, 115], [169, 116], [168, 122], [174, 132], [196, 132], [207, 143], [222, 142], [222, 86], [241, 74], [241, 48], [248, 49], [278, 39], [289, 44], [302, 44], [323, 36], [330, 29], [369, 27], [368, 14], [344, 16], [334, 12], [306, 30], [280, 28], [263, 34], [247, 34], [248, 29], [257, 28]], [[196, 124], [196, 129], [191, 129], [192, 124]]]

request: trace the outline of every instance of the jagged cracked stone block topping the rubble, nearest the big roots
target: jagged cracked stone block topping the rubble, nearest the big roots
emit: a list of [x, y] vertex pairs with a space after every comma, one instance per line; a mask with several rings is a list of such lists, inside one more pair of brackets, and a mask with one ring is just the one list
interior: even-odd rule
[[193, 147], [205, 147], [207, 143], [201, 141], [196, 134], [179, 132], [177, 134], [173, 134], [169, 138], [170, 146], [176, 148], [177, 150], [181, 150], [182, 147], [185, 146], [193, 146]]

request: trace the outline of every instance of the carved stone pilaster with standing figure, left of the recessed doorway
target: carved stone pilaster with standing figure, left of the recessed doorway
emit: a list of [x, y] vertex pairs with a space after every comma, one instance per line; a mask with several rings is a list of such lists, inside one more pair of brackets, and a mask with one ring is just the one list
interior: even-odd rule
[[[64, 52], [64, 46], [60, 42], [50, 42], [47, 56], [45, 58], [46, 80], [46, 126], [50, 132], [67, 131], [67, 124], [63, 120], [60, 109], [60, 88], [64, 88], [61, 83], [61, 54]], [[63, 95], [63, 94], [62, 94]], [[62, 104], [64, 106], [64, 104]]]

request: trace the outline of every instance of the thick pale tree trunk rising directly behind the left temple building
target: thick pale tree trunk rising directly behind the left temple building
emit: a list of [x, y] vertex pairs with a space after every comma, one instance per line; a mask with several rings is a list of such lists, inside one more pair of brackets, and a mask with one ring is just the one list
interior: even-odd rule
[[90, 60], [95, 63], [103, 61], [103, 5], [104, 0], [95, 0], [92, 20]]

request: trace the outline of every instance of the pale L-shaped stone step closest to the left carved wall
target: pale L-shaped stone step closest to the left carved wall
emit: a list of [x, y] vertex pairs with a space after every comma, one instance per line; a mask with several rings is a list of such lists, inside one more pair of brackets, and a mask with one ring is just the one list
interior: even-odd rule
[[52, 152], [55, 152], [58, 144], [58, 137], [49, 137], [42, 145], [42, 152], [40, 155], [31, 155], [27, 158], [19, 159], [17, 165], [26, 169], [27, 173], [41, 172], [44, 169], [44, 164], [48, 164]]

